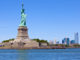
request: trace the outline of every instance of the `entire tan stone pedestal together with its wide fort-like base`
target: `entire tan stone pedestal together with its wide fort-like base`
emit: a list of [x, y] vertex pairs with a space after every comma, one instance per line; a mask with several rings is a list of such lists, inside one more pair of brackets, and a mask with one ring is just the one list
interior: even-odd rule
[[13, 48], [38, 48], [39, 43], [32, 41], [28, 36], [28, 29], [26, 26], [18, 28], [18, 35], [14, 41], [10, 41]]

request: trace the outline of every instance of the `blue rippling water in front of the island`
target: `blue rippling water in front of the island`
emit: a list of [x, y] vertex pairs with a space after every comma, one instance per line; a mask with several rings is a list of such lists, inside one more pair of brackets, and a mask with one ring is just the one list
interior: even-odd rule
[[80, 49], [0, 50], [0, 60], [80, 60]]

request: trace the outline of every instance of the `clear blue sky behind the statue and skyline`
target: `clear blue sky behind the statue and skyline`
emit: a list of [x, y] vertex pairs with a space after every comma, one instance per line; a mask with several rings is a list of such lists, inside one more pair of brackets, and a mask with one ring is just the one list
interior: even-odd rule
[[[80, 0], [23, 0], [31, 39], [62, 41], [80, 34]], [[0, 0], [0, 42], [16, 38], [21, 0]], [[80, 35], [79, 35], [80, 37]]]

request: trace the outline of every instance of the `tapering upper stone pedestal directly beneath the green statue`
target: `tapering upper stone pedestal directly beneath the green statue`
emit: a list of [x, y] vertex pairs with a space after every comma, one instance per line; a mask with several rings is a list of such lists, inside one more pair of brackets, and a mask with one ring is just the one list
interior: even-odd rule
[[29, 41], [29, 36], [28, 36], [28, 29], [27, 27], [20, 26], [18, 28], [18, 35], [17, 38], [15, 39], [16, 42], [23, 42], [23, 41]]

